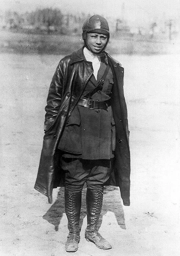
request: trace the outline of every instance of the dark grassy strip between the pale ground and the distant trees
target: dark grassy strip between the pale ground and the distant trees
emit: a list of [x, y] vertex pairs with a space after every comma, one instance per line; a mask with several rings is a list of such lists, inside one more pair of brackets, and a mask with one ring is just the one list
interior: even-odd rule
[[[81, 35], [38, 35], [1, 31], [0, 52], [25, 54], [64, 54], [83, 45]], [[180, 53], [180, 41], [150, 35], [119, 35], [110, 37], [107, 51], [110, 54], [157, 55]]]

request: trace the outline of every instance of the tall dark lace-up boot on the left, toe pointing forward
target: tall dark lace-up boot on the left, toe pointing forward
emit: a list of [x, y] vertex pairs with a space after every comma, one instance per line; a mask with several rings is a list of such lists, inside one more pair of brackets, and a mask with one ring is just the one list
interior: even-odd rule
[[65, 213], [68, 219], [69, 235], [65, 244], [67, 252], [75, 252], [80, 241], [79, 218], [81, 211], [81, 192], [75, 193], [65, 188]]

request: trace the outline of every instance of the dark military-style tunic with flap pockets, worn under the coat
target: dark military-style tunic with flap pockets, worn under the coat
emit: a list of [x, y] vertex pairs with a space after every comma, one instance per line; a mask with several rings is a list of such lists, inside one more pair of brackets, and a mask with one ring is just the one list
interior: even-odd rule
[[[106, 70], [105, 58], [101, 58], [101, 65], [97, 81], [92, 75], [82, 96], [92, 91], [98, 85]], [[93, 67], [92, 67], [93, 69]], [[105, 78], [102, 91], [96, 92], [91, 98], [104, 101], [111, 97], [113, 75], [111, 69]], [[115, 123], [111, 106], [107, 110], [89, 109], [76, 106], [68, 119], [59, 149], [65, 151], [63, 157], [82, 159], [111, 159], [115, 150]]]

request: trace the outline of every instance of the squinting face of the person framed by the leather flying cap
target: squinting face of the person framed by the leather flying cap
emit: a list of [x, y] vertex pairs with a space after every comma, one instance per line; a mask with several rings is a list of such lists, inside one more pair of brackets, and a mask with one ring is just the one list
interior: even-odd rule
[[94, 54], [101, 53], [107, 44], [107, 36], [103, 34], [87, 33], [87, 45]]

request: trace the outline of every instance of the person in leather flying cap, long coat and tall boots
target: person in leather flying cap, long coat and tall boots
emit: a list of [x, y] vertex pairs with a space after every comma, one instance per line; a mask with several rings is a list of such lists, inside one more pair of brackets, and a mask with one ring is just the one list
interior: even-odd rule
[[130, 205], [130, 152], [124, 69], [107, 52], [107, 20], [93, 15], [83, 25], [84, 46], [64, 57], [53, 76], [45, 107], [45, 135], [35, 189], [52, 203], [65, 186], [67, 252], [78, 249], [81, 191], [87, 185], [85, 238], [100, 249], [112, 246], [97, 224], [105, 185], [120, 187]]

